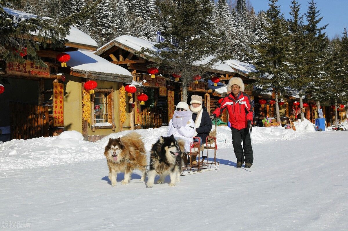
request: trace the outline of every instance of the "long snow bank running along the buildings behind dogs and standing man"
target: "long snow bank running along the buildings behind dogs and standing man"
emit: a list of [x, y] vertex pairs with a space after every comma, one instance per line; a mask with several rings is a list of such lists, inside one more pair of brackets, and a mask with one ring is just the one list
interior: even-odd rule
[[[297, 139], [312, 129], [314, 131], [313, 125], [308, 122], [301, 122], [296, 132], [284, 129], [282, 126], [253, 127], [251, 135], [253, 144]], [[152, 144], [161, 135], [166, 136], [167, 129], [168, 126], [136, 130], [143, 137], [148, 157]], [[81, 133], [77, 131], [65, 131], [56, 137], [7, 141], [0, 145], [0, 171], [102, 159], [105, 158], [103, 152], [109, 138], [122, 137], [129, 132], [132, 130], [112, 133], [96, 142], [84, 141]], [[218, 149], [232, 147], [231, 129], [228, 126], [217, 127], [217, 147]]]

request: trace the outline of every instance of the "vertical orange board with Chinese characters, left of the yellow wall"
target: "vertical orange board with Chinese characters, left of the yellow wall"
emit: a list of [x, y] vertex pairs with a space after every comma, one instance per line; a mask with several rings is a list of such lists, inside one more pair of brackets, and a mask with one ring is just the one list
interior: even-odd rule
[[64, 126], [64, 85], [53, 81], [53, 126]]

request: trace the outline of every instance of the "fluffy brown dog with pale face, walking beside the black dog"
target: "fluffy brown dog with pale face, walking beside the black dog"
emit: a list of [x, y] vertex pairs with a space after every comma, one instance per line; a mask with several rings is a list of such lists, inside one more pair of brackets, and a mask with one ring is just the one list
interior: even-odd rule
[[145, 147], [141, 135], [131, 132], [124, 137], [109, 139], [105, 147], [104, 155], [109, 167], [109, 179], [111, 186], [116, 186], [117, 173], [124, 172], [125, 178], [122, 184], [128, 184], [134, 169], [142, 172], [141, 181], [146, 178]]

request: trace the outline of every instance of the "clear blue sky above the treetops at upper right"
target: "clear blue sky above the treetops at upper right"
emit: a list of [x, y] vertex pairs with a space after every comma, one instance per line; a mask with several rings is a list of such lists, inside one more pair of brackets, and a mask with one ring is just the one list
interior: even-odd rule
[[[307, 11], [309, 0], [298, 0], [301, 4], [301, 13]], [[320, 16], [324, 17], [321, 25], [329, 24], [326, 27], [327, 36], [332, 39], [336, 34], [342, 36], [343, 27], [348, 27], [348, 0], [315, 0]], [[268, 9], [268, 0], [250, 0], [255, 12]], [[284, 13], [285, 18], [290, 18], [289, 11], [291, 0], [278, 0], [278, 6]]]

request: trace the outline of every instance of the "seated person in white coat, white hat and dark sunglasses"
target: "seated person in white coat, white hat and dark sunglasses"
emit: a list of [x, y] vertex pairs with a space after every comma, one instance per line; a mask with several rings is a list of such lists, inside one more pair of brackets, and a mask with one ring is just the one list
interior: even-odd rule
[[185, 152], [190, 152], [190, 143], [193, 142], [196, 126], [192, 120], [192, 112], [185, 102], [176, 105], [173, 118], [169, 121], [168, 135], [174, 135], [175, 139], [185, 140]]

